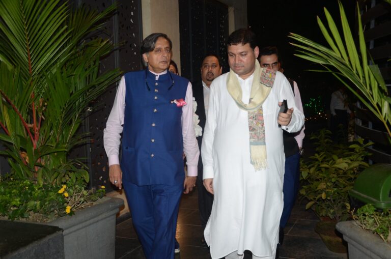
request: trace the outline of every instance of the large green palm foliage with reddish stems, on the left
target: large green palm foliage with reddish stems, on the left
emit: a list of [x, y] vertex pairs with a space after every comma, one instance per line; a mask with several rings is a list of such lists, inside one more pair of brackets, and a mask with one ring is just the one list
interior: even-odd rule
[[41, 184], [85, 167], [67, 155], [88, 140], [76, 134], [86, 107], [120, 74], [100, 73], [113, 44], [96, 36], [116, 5], [98, 13], [62, 3], [0, 0], [0, 155], [16, 176]]

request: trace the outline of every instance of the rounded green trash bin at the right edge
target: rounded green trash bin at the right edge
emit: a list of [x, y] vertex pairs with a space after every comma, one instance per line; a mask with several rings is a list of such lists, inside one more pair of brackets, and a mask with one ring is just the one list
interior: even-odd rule
[[391, 208], [391, 164], [374, 164], [366, 168], [349, 194], [353, 200], [371, 203], [378, 209]]

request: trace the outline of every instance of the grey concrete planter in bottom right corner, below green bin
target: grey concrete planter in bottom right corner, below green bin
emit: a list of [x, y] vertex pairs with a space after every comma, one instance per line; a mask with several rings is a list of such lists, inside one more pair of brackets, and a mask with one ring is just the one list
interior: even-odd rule
[[348, 242], [349, 258], [354, 259], [389, 259], [391, 258], [391, 245], [357, 226], [354, 221], [343, 221], [336, 225], [339, 232]]

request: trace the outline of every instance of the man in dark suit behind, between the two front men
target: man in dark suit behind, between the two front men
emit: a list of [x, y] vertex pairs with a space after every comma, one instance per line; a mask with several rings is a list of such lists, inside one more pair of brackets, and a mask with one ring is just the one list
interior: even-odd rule
[[[202, 81], [193, 84], [193, 97], [197, 102], [197, 110], [195, 110], [195, 113], [199, 116], [199, 125], [202, 127], [203, 131], [208, 110], [210, 84], [212, 83], [213, 79], [221, 75], [221, 69], [222, 67], [220, 59], [217, 55], [206, 55], [201, 64]], [[197, 137], [197, 141], [201, 151], [202, 135]], [[209, 193], [204, 187], [202, 170], [203, 166], [200, 156], [198, 161], [197, 189], [202, 231], [204, 233], [206, 223], [208, 222], [212, 210], [213, 195]], [[204, 238], [201, 240], [201, 242], [206, 245]]]

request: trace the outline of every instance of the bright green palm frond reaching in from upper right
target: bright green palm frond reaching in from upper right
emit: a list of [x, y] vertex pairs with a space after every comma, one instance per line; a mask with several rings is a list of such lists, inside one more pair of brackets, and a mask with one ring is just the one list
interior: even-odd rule
[[[357, 4], [358, 47], [351, 33], [348, 20], [339, 1], [342, 24], [341, 37], [337, 25], [327, 9], [324, 9], [328, 28], [318, 17], [318, 25], [329, 47], [291, 33], [289, 37], [298, 43], [296, 56], [320, 64], [337, 77], [375, 116], [384, 124], [391, 137], [390, 100], [384, 79], [377, 66], [368, 65], [367, 47], [362, 31], [361, 17]], [[331, 32], [332, 38], [328, 31]], [[357, 51], [359, 49], [359, 52]], [[360, 53], [360, 55], [359, 55]], [[350, 81], [350, 83], [349, 83]], [[351, 85], [354, 85], [352, 87]]]

